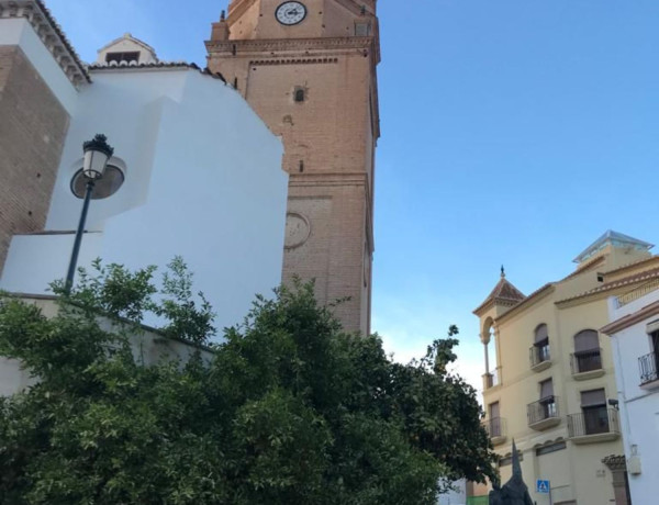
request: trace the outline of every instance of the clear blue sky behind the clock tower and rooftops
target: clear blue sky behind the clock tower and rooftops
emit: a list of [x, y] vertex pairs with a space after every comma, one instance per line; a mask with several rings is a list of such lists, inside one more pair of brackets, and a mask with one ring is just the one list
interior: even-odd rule
[[[85, 60], [131, 32], [203, 66], [227, 0], [46, 0]], [[380, 0], [373, 329], [401, 360], [499, 280], [568, 274], [608, 228], [659, 240], [659, 1]]]

